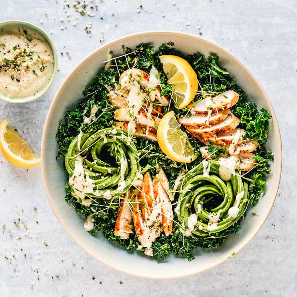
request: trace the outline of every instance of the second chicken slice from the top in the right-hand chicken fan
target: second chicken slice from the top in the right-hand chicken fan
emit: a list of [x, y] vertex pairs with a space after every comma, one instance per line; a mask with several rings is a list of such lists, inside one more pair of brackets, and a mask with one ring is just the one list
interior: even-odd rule
[[230, 109], [226, 109], [220, 113], [213, 113], [209, 116], [203, 114], [194, 113], [189, 117], [179, 118], [179, 123], [183, 124], [186, 127], [196, 128], [198, 126], [210, 126], [216, 125], [222, 121], [231, 113]]

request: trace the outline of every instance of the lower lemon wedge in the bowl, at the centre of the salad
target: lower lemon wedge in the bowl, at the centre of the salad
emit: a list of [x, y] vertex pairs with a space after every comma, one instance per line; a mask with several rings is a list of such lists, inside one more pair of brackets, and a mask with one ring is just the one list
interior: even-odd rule
[[174, 161], [190, 163], [197, 158], [187, 134], [180, 129], [173, 111], [166, 113], [161, 119], [157, 139], [162, 152]]

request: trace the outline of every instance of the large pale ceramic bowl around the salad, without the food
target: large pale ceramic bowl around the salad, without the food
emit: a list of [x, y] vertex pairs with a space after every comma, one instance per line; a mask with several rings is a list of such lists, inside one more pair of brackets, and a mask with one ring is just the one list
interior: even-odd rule
[[[152, 43], [158, 48], [162, 43], [169, 41], [174, 42], [176, 48], [187, 54], [199, 51], [208, 56], [211, 52], [217, 53], [220, 64], [228, 69], [232, 77], [236, 78], [239, 86], [242, 86], [248, 93], [249, 100], [255, 102], [258, 108], [268, 109], [272, 119], [270, 120], [266, 147], [274, 152], [274, 163], [271, 164], [271, 174], [267, 177], [266, 194], [253, 207], [260, 214], [259, 216], [252, 215], [251, 211], [247, 211], [245, 220], [241, 223], [242, 229], [236, 234], [230, 235], [226, 244], [214, 250], [196, 249], [193, 253], [196, 259], [191, 262], [171, 254], [165, 262], [157, 263], [142, 253], [130, 253], [115, 243], [107, 242], [101, 233], [91, 236], [84, 230], [83, 219], [64, 200], [68, 175], [63, 170], [62, 161], [56, 160], [58, 145], [55, 134], [66, 109], [72, 108], [73, 104], [78, 102], [85, 86], [103, 67], [102, 62], [106, 60], [108, 48], [115, 54], [120, 54], [122, 53], [122, 44], [134, 48], [144, 42]], [[80, 247], [97, 260], [120, 271], [149, 278], [174, 278], [195, 274], [222, 263], [233, 252], [237, 253], [242, 249], [259, 231], [272, 208], [279, 187], [281, 163], [281, 139], [274, 110], [264, 89], [249, 69], [214, 43], [194, 35], [168, 31], [144, 32], [119, 38], [85, 58], [58, 90], [44, 125], [41, 146], [41, 167], [45, 192], [63, 228]]]

